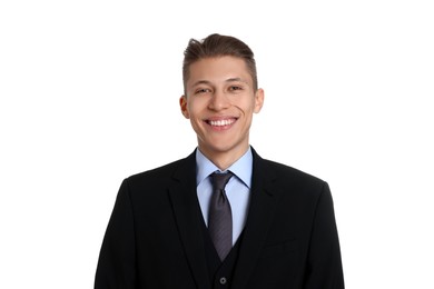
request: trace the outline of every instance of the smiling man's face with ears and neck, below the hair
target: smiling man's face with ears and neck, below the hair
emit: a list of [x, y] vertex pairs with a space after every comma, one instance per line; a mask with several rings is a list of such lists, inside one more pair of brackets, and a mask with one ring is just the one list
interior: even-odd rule
[[200, 151], [208, 158], [221, 153], [241, 157], [248, 148], [253, 113], [260, 111], [264, 91], [254, 91], [243, 59], [206, 58], [189, 68], [183, 114], [190, 119]]

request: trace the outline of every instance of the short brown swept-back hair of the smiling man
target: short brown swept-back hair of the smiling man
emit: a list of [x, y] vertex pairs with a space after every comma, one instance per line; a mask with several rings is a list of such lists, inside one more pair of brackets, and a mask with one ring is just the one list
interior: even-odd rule
[[220, 36], [217, 33], [210, 34], [201, 41], [196, 39], [190, 39], [188, 41], [188, 46], [184, 51], [183, 62], [184, 90], [186, 90], [187, 79], [189, 78], [189, 68], [194, 62], [204, 58], [226, 56], [244, 59], [253, 79], [253, 88], [256, 91], [258, 89], [258, 78], [251, 49], [235, 37]]

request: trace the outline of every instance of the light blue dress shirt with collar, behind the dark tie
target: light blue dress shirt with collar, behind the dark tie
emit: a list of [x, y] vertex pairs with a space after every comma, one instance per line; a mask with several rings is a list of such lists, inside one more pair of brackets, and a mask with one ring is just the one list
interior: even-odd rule
[[[207, 159], [199, 149], [196, 150], [196, 165], [197, 197], [199, 199], [205, 223], [208, 226], [208, 209], [213, 195], [213, 183], [209, 175], [221, 170]], [[235, 245], [247, 219], [253, 170], [251, 149], [249, 148], [246, 153], [227, 170], [230, 170], [235, 175], [230, 178], [225, 188], [233, 211], [233, 245]]]

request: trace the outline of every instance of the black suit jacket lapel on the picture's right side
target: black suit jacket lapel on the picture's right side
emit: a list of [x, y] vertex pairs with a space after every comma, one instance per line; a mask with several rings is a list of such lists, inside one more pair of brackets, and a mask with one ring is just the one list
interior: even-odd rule
[[[253, 150], [253, 149], [251, 149]], [[279, 189], [273, 186], [276, 176], [266, 167], [265, 161], [253, 150], [253, 183], [250, 208], [244, 231], [233, 288], [246, 288], [257, 259], [264, 248], [268, 228], [273, 221], [278, 202]]]

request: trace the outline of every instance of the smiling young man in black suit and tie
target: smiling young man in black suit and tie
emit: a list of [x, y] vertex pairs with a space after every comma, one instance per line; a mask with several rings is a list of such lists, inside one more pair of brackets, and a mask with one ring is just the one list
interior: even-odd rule
[[[264, 102], [251, 50], [233, 37], [191, 39], [183, 76], [198, 147], [122, 182], [95, 288], [344, 288], [327, 183], [249, 146]], [[221, 176], [226, 187], [214, 187]]]

